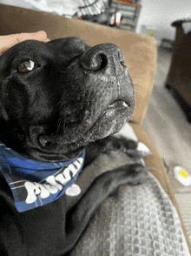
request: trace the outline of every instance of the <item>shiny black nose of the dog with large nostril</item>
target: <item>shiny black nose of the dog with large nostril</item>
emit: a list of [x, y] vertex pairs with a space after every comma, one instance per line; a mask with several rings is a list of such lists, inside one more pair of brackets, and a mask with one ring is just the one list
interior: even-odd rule
[[85, 51], [81, 57], [81, 64], [85, 70], [98, 71], [117, 63], [124, 63], [122, 51], [115, 44], [98, 44]]

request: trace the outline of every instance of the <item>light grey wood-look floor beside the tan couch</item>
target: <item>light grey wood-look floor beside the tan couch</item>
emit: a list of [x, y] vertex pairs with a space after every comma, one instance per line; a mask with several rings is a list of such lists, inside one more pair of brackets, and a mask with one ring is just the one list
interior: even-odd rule
[[143, 127], [168, 165], [175, 199], [191, 241], [191, 185], [181, 185], [173, 173], [175, 165], [181, 165], [191, 175], [191, 124], [171, 93], [164, 88], [171, 57], [171, 51], [158, 49], [155, 84]]

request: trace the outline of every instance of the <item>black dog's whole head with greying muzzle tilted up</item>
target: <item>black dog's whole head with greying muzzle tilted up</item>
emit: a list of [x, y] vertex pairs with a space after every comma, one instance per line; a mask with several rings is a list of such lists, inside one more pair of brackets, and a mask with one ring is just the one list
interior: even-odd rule
[[135, 93], [122, 51], [81, 38], [28, 40], [0, 57], [3, 143], [31, 158], [74, 158], [90, 141], [119, 131]]

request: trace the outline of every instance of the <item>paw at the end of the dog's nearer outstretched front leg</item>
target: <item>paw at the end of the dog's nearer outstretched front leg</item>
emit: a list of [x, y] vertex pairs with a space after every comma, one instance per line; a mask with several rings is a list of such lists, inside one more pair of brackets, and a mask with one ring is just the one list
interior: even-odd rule
[[145, 183], [148, 180], [148, 167], [134, 164], [128, 165], [126, 175], [127, 184], [129, 185], [139, 185]]

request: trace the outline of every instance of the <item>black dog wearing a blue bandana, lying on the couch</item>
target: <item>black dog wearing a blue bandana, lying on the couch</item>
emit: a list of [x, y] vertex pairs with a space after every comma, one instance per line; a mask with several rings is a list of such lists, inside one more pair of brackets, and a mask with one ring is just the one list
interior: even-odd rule
[[109, 135], [134, 110], [122, 51], [77, 37], [29, 40], [3, 53], [0, 73], [0, 254], [65, 255], [110, 193], [147, 176], [138, 164], [105, 172], [66, 212], [64, 193], [82, 169], [84, 148], [88, 165], [98, 153], [94, 141], [103, 151], [119, 147]]

